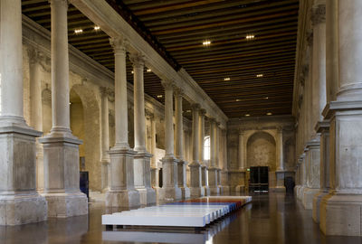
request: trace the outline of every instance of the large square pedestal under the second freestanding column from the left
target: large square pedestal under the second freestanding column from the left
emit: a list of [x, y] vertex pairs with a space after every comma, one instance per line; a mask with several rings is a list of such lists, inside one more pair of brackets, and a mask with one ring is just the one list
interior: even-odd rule
[[87, 196], [80, 191], [79, 145], [71, 134], [39, 138], [44, 150], [44, 192], [48, 217], [88, 214]]

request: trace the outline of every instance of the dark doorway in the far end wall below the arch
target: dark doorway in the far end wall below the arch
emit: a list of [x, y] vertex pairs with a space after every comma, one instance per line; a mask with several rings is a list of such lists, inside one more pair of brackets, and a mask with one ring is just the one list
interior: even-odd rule
[[250, 167], [249, 192], [267, 193], [269, 191], [269, 167]]

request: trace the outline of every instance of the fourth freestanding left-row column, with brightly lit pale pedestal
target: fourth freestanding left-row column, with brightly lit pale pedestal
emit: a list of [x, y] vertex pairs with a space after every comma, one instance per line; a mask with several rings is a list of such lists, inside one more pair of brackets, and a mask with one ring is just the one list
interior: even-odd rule
[[133, 64], [133, 97], [134, 97], [134, 133], [137, 152], [134, 159], [135, 188], [139, 192], [141, 204], [156, 202], [156, 192], [151, 187], [150, 155], [146, 149], [146, 117], [145, 93], [143, 85], [144, 57], [140, 54], [129, 56]]

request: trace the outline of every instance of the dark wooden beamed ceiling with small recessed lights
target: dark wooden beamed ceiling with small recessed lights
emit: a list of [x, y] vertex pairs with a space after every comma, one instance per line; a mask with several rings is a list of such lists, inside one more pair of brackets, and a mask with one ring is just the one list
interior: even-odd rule
[[[184, 68], [227, 117], [291, 114], [298, 0], [106, 1], [174, 69]], [[22, 3], [25, 15], [50, 30], [47, 0]], [[71, 45], [114, 70], [109, 36], [95, 31], [94, 23], [72, 5], [68, 27]], [[83, 32], [76, 34], [76, 29]], [[146, 69], [145, 92], [164, 102], [157, 98], [164, 92], [159, 78]], [[129, 61], [127, 71], [132, 83]]]

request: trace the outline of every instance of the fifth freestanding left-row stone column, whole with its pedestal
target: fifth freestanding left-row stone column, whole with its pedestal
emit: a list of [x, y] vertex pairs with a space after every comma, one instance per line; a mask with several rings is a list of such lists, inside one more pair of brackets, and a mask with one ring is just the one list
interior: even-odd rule
[[162, 190], [160, 199], [176, 201], [182, 198], [181, 189], [178, 187], [177, 160], [174, 156], [174, 123], [173, 123], [173, 96], [174, 84], [163, 81], [165, 88], [165, 156], [162, 158]]

